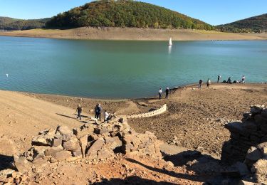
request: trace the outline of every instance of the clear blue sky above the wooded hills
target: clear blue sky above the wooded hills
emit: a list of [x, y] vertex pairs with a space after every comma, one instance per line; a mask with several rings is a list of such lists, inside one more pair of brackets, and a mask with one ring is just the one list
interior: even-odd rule
[[[218, 25], [267, 13], [267, 0], [141, 0]], [[90, 0], [0, 0], [0, 16], [45, 18]]]

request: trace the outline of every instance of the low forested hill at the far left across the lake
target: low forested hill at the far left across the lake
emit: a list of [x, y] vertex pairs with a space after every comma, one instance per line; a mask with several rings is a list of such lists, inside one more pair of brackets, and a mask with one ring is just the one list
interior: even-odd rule
[[11, 31], [43, 28], [46, 26], [46, 21], [48, 21], [49, 19], [50, 18], [23, 20], [0, 16], [0, 30]]

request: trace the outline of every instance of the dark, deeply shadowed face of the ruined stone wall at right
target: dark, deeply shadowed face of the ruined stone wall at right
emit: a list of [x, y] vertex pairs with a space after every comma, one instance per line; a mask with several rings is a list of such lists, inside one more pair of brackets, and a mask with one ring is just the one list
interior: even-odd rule
[[251, 112], [244, 113], [242, 122], [231, 122], [226, 128], [231, 132], [231, 139], [224, 143], [221, 160], [243, 162], [251, 146], [267, 142], [267, 108], [251, 106]]

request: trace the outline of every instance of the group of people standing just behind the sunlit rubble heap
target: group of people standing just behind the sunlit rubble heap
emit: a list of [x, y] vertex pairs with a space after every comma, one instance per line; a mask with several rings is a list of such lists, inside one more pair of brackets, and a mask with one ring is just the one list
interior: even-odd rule
[[[80, 104], [78, 104], [76, 112], [78, 113], [77, 119], [79, 118], [80, 120], [82, 120], [81, 113], [83, 112], [83, 107]], [[101, 107], [100, 103], [98, 103], [97, 105], [95, 105], [95, 119], [101, 121], [102, 113], [103, 113], [103, 108]], [[108, 110], [105, 110], [103, 115], [104, 115], [104, 122], [108, 122], [112, 117], [115, 117], [114, 114], [110, 115], [108, 113]]]

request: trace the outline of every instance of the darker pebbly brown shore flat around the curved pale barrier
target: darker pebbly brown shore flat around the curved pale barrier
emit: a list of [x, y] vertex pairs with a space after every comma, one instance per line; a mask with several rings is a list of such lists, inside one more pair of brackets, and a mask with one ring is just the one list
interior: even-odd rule
[[[167, 103], [167, 112], [150, 118], [129, 120], [137, 132], [150, 131], [165, 142], [174, 142], [180, 147], [199, 149], [217, 157], [221, 156], [221, 147], [229, 140], [227, 122], [240, 120], [250, 105], [267, 104], [266, 84], [212, 84], [199, 90], [197, 85], [172, 91], [169, 99], [125, 100], [119, 102], [76, 99], [58, 95], [28, 94], [58, 105], [73, 107], [80, 102], [85, 110], [92, 110], [100, 102], [108, 112], [119, 115], [132, 115], [147, 112], [150, 108]], [[135, 106], [133, 106], [136, 104]], [[145, 105], [145, 106], [142, 106]], [[176, 139], [174, 139], [176, 138]]]

